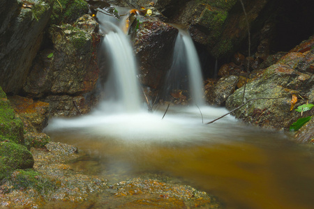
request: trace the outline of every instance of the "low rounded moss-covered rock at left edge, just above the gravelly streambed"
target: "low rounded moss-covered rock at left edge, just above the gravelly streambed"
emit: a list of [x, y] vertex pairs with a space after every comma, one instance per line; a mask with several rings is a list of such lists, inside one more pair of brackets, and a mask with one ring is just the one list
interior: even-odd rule
[[0, 142], [0, 179], [15, 169], [33, 167], [33, 155], [25, 146], [12, 142]]

